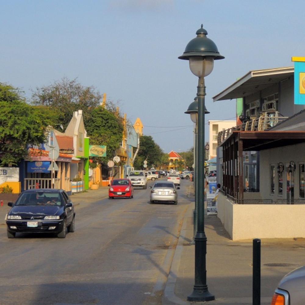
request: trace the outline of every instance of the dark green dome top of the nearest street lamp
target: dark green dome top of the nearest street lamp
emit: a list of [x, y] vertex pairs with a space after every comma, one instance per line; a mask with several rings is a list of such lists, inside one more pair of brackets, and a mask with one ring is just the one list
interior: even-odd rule
[[193, 56], [202, 56], [202, 57], [213, 57], [213, 59], [224, 59], [224, 56], [220, 55], [218, 52], [217, 46], [206, 35], [208, 32], [203, 28], [197, 30], [196, 38], [193, 38], [185, 47], [184, 53], [179, 56], [179, 59], [189, 59]]

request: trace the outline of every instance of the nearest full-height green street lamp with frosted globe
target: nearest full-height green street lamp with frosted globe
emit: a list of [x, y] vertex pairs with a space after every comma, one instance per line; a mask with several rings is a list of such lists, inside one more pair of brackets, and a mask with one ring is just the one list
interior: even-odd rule
[[188, 296], [189, 301], [206, 302], [215, 300], [206, 284], [206, 234], [204, 231], [204, 110], [206, 87], [204, 77], [209, 75], [214, 66], [214, 60], [223, 59], [218, 52], [215, 43], [206, 37], [207, 31], [203, 25], [196, 32], [197, 37], [193, 38], [186, 46], [183, 55], [179, 59], [189, 61], [190, 70], [198, 78], [198, 154], [197, 154], [197, 180], [195, 199], [197, 198], [197, 232], [195, 240], [195, 285], [193, 292]]

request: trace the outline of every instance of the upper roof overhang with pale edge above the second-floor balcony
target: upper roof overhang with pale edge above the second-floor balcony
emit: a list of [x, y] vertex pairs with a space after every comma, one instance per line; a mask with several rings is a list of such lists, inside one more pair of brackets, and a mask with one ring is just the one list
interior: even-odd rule
[[239, 99], [294, 76], [294, 67], [254, 70], [213, 97], [213, 102]]

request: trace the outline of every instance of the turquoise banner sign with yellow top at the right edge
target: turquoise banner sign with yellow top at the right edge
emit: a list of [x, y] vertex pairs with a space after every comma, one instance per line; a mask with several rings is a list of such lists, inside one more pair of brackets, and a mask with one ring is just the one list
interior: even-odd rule
[[294, 61], [294, 103], [305, 105], [305, 57], [292, 57]]

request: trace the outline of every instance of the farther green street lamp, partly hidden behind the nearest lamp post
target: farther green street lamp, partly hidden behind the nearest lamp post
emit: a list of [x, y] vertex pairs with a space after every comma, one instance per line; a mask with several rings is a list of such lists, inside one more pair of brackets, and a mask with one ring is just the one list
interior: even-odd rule
[[[192, 122], [195, 124], [195, 143], [194, 143], [194, 189], [195, 189], [195, 208], [193, 211], [193, 222], [194, 222], [194, 238], [197, 232], [197, 209], [198, 209], [198, 200], [197, 200], [197, 189], [198, 189], [198, 175], [197, 175], [197, 169], [198, 169], [198, 126], [197, 126], [197, 120], [198, 120], [198, 97], [196, 96], [194, 98], [194, 102], [190, 103], [188, 106], [188, 110], [185, 111], [185, 113], [190, 114]], [[210, 113], [206, 106], [204, 106], [204, 113]]]

